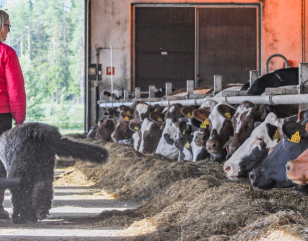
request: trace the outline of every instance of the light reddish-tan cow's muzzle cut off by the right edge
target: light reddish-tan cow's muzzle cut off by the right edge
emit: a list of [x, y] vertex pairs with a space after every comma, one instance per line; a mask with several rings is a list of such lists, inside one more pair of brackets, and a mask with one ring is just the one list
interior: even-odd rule
[[308, 184], [308, 149], [286, 165], [286, 176], [293, 183], [299, 185]]

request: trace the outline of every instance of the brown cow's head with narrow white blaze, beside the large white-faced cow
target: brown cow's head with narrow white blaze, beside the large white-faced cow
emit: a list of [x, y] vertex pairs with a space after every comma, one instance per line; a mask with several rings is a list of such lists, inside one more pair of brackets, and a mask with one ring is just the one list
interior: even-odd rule
[[255, 122], [262, 122], [267, 111], [264, 105], [257, 106], [251, 102], [244, 101], [236, 109], [232, 117], [233, 139], [229, 144], [229, 153], [232, 155], [254, 130]]

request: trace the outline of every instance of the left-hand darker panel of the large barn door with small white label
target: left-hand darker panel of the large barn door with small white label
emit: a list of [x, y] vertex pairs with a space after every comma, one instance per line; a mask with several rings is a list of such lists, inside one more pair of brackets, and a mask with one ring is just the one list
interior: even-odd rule
[[148, 91], [195, 78], [195, 8], [136, 7], [134, 86]]

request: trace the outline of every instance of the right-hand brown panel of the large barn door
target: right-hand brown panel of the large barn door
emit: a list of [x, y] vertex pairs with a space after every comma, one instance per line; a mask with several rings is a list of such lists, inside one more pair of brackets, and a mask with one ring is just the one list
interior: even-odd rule
[[257, 8], [199, 8], [200, 85], [213, 85], [215, 74], [223, 84], [245, 83], [257, 69]]

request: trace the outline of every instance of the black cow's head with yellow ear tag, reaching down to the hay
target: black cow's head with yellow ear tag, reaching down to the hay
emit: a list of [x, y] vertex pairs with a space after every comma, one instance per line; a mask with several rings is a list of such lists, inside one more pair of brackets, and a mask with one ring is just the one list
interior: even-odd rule
[[253, 187], [268, 190], [289, 188], [295, 184], [286, 178], [285, 165], [308, 148], [308, 124], [290, 121], [282, 126], [283, 140], [268, 154], [261, 165], [249, 173]]

